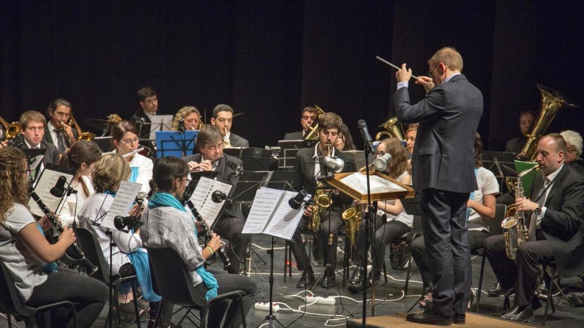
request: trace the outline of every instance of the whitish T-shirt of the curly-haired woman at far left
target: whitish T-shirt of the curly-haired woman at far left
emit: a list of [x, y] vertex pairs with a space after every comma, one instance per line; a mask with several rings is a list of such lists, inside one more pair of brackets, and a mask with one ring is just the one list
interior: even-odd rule
[[0, 260], [6, 264], [23, 302], [29, 300], [34, 287], [47, 281], [43, 262], [26, 248], [18, 235], [29, 224], [36, 225], [32, 214], [25, 205], [14, 204], [6, 213], [6, 222], [0, 225]]

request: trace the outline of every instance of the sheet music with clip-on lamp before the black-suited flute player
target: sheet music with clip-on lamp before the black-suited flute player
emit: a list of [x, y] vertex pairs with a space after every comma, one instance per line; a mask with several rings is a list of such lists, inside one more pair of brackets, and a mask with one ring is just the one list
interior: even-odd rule
[[199, 183], [197, 183], [193, 194], [190, 196], [190, 201], [193, 202], [194, 207], [199, 211], [201, 217], [207, 221], [209, 226], [213, 226], [215, 219], [217, 219], [223, 208], [223, 204], [225, 204], [225, 201], [214, 203], [214, 201], [211, 200], [211, 194], [213, 194], [215, 190], [220, 190], [228, 195], [232, 187], [231, 184], [209, 179], [204, 176], [201, 177]]

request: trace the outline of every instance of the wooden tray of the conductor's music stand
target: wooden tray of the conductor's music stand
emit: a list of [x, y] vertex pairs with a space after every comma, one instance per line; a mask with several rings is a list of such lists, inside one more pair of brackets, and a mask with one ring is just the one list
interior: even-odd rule
[[[333, 179], [329, 180], [329, 184], [335, 187], [336, 189], [342, 191], [342, 193], [347, 194], [348, 196], [352, 197], [354, 200], [359, 201], [360, 203], [367, 203], [367, 192], [360, 193], [353, 186], [349, 186], [345, 182], [341, 181], [343, 178], [353, 175], [353, 174], [360, 174], [365, 176], [365, 172], [350, 172], [350, 173], [336, 173]], [[381, 191], [381, 192], [371, 192], [371, 201], [380, 201], [380, 200], [392, 200], [397, 198], [412, 198], [414, 191], [413, 188], [408, 186], [407, 184], [401, 183], [398, 180], [392, 179], [391, 177], [384, 175], [383, 173], [374, 171], [369, 173], [370, 176], [378, 176], [384, 180], [392, 182], [396, 184], [398, 187], [401, 187], [402, 190], [395, 190], [395, 191]]]

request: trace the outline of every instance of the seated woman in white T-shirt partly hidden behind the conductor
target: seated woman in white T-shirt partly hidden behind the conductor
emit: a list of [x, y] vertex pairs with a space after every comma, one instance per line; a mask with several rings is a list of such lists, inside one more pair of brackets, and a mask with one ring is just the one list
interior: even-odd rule
[[[499, 193], [499, 183], [495, 175], [482, 167], [482, 141], [478, 134], [475, 137], [475, 175], [477, 176], [478, 189], [475, 190], [467, 202], [468, 207], [468, 248], [471, 252], [482, 247], [483, 242], [489, 236], [489, 226], [487, 220], [495, 218], [496, 194]], [[426, 257], [426, 247], [423, 236], [418, 236], [412, 242], [412, 257], [418, 265], [422, 282], [427, 293], [424, 299], [420, 301], [420, 307], [430, 306], [432, 302], [432, 277], [430, 275], [430, 266]], [[472, 300], [471, 294], [471, 300]], [[470, 303], [469, 302], [469, 307]]]

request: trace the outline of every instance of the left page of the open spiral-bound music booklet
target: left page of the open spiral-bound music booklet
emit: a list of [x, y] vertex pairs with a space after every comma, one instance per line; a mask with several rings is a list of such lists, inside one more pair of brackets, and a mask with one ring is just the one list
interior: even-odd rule
[[282, 193], [283, 191], [281, 190], [260, 187], [256, 192], [252, 208], [249, 210], [248, 218], [245, 221], [244, 230], [241, 233], [261, 233], [267, 224], [267, 219], [270, 218], [276, 208]]

